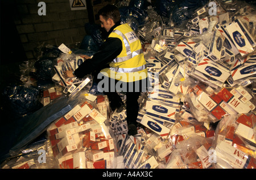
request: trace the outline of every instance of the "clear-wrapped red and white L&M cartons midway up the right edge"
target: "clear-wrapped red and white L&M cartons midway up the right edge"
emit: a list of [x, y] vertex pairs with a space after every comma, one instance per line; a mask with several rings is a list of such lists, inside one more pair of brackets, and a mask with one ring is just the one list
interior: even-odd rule
[[193, 87], [186, 101], [200, 122], [217, 122], [226, 114], [249, 113], [255, 109], [254, 95], [242, 86], [214, 90], [199, 83]]

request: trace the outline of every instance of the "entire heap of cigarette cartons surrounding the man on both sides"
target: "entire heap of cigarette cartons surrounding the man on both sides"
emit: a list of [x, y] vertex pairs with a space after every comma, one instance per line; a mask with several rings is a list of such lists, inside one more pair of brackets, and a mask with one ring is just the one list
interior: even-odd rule
[[150, 85], [134, 136], [92, 77], [63, 78], [85, 58], [62, 47], [52, 80], [79, 104], [47, 129], [57, 168], [256, 168], [255, 7], [212, 2], [184, 27], [158, 15], [139, 28]]

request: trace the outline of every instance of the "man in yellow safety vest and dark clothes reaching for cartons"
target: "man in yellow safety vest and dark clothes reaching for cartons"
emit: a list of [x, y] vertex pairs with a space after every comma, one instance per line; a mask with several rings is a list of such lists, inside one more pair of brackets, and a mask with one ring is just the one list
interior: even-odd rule
[[[120, 23], [120, 14], [114, 5], [104, 6], [100, 15], [101, 27], [108, 32], [108, 38], [100, 50], [87, 59], [74, 72], [68, 70], [64, 77], [82, 78], [97, 73], [98, 89], [108, 95], [112, 110], [122, 110], [126, 105], [129, 135], [137, 134], [138, 98], [147, 90], [147, 66], [141, 41], [128, 24]], [[126, 94], [123, 104], [118, 92]]]

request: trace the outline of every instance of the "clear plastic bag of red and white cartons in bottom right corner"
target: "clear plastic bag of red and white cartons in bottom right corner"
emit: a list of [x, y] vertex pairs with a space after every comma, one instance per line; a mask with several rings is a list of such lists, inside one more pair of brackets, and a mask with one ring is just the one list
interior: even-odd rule
[[215, 168], [255, 169], [255, 114], [227, 115], [216, 129]]

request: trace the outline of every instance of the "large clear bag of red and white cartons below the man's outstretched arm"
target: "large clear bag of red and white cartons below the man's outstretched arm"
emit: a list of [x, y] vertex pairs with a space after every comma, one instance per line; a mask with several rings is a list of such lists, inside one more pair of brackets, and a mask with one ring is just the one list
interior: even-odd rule
[[85, 97], [47, 129], [53, 156], [63, 169], [116, 168], [116, 142], [100, 107], [105, 98]]

